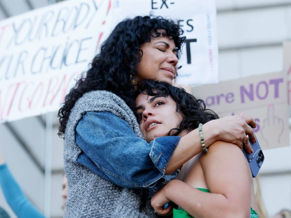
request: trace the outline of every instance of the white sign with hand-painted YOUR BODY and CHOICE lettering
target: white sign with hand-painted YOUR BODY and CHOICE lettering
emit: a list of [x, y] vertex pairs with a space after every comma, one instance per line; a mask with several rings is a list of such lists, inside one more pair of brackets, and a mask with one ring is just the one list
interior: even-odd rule
[[72, 0], [0, 22], [0, 122], [60, 108], [88, 69], [110, 0]]

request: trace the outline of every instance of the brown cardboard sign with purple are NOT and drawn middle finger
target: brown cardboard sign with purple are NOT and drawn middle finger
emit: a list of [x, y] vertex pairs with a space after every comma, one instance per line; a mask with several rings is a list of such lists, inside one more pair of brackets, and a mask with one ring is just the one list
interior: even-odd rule
[[285, 72], [276, 72], [192, 87], [191, 91], [219, 117], [240, 112], [253, 117], [260, 146], [267, 149], [289, 145], [286, 84]]

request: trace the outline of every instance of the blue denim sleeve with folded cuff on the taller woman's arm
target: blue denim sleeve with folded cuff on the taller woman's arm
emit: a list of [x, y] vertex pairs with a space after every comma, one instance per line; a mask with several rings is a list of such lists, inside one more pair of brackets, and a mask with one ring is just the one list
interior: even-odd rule
[[84, 153], [78, 162], [95, 174], [127, 188], [159, 187], [177, 177], [165, 168], [179, 136], [137, 137], [126, 121], [110, 112], [87, 112], [76, 127], [76, 143]]

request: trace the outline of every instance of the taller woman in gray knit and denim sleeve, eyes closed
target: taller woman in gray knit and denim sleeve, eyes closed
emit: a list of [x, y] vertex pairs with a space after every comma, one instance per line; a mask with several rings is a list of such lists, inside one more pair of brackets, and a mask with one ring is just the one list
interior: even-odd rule
[[[125, 19], [65, 97], [58, 113], [69, 187], [65, 217], [154, 217], [150, 196], [201, 151], [198, 129], [146, 142], [132, 111], [137, 82], [172, 83], [181, 34], [178, 24], [162, 17]], [[208, 122], [205, 147], [222, 140], [251, 152], [244, 141], [246, 134], [255, 140], [249, 123], [255, 126], [248, 116]]]

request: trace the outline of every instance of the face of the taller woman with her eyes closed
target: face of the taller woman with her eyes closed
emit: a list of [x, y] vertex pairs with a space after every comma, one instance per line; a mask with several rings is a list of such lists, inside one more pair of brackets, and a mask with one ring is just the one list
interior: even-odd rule
[[[158, 31], [162, 33], [161, 31]], [[143, 56], [136, 67], [138, 81], [156, 79], [172, 84], [177, 74], [177, 50], [174, 40], [168, 36], [152, 37], [141, 45]]]

